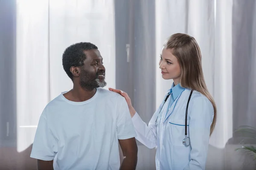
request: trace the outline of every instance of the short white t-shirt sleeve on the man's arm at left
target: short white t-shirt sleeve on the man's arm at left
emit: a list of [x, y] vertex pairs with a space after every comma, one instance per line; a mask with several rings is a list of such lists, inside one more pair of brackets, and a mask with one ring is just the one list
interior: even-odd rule
[[58, 152], [58, 140], [53, 136], [47, 125], [45, 112], [44, 110], [40, 116], [30, 157], [51, 161]]

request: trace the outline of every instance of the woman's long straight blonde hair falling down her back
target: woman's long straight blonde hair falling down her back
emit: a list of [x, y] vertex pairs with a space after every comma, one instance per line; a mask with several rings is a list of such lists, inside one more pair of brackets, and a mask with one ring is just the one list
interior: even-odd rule
[[212, 103], [214, 117], [210, 129], [210, 135], [216, 123], [216, 105], [214, 99], [207, 90], [201, 64], [201, 51], [194, 37], [187, 34], [173, 34], [164, 43], [164, 48], [171, 49], [172, 54], [177, 57], [181, 68], [180, 86], [198, 91], [206, 96]]

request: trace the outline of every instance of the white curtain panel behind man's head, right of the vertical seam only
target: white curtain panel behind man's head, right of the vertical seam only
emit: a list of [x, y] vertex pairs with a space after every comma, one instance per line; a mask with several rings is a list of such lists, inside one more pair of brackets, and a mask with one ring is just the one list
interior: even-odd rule
[[62, 53], [76, 42], [98, 46], [106, 82], [115, 88], [115, 23], [113, 0], [49, 0], [50, 98], [73, 87], [63, 70]]

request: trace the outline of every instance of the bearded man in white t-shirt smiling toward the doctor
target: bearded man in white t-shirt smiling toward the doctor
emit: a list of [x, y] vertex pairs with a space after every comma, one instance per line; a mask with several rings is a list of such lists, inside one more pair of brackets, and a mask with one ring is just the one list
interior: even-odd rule
[[41, 114], [31, 152], [38, 170], [118, 170], [118, 142], [125, 157], [121, 170], [135, 170], [136, 133], [128, 105], [121, 95], [102, 88], [105, 67], [96, 45], [71, 45], [62, 63], [73, 89], [49, 102]]

